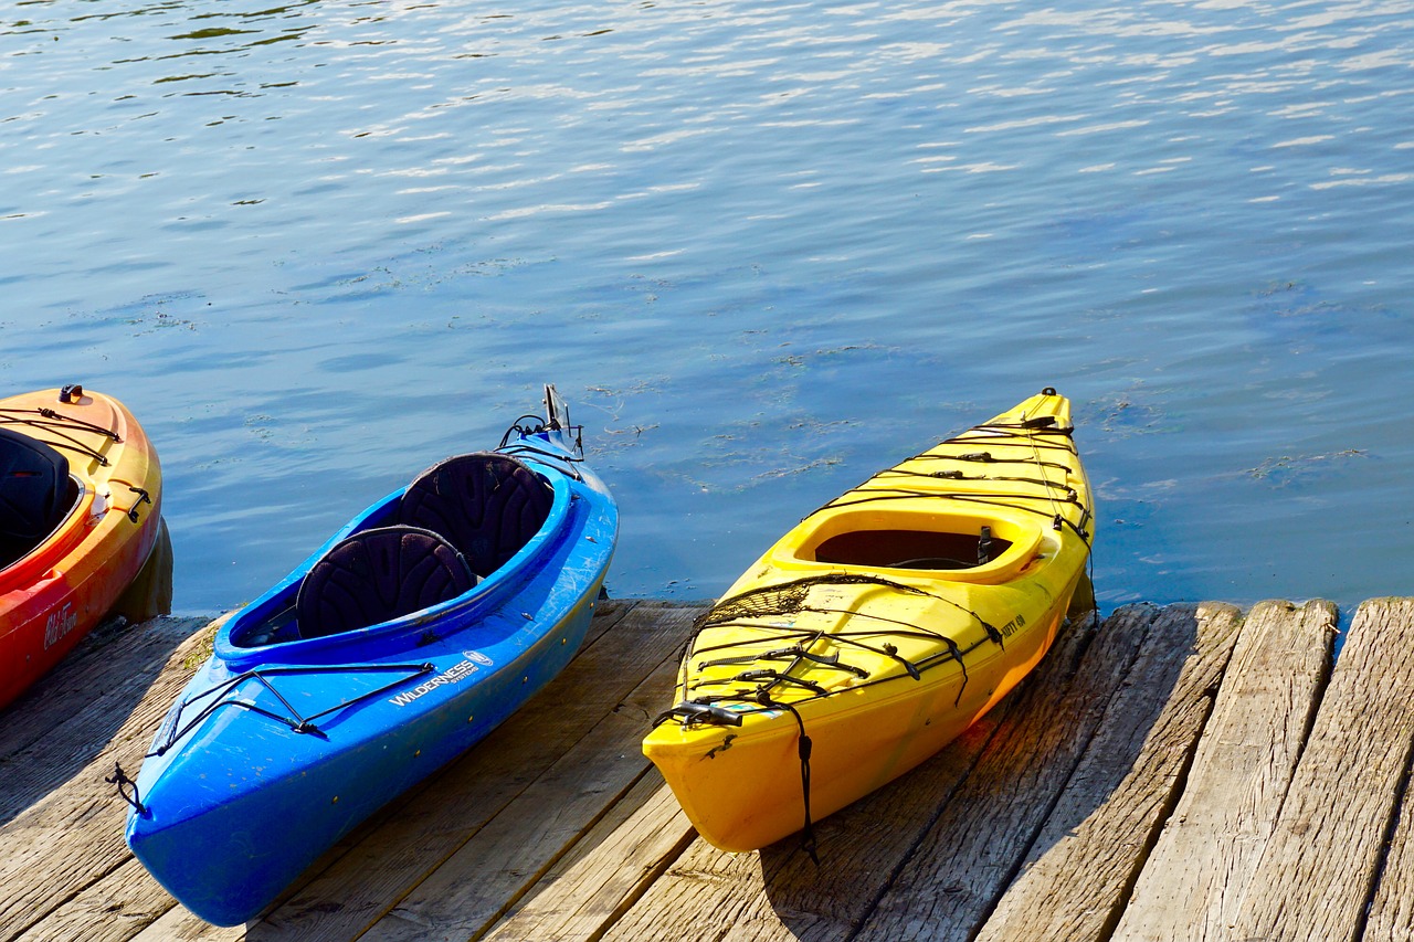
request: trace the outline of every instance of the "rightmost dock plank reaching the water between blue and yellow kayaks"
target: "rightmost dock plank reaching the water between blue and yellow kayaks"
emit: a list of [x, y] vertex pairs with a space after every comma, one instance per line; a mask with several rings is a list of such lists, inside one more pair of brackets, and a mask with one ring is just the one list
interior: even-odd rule
[[677, 648], [687, 641], [694, 611], [679, 610], [683, 618], [659, 622], [665, 634], [676, 634], [669, 639], [669, 656], [544, 775], [375, 924], [373, 938], [416, 942], [482, 935], [643, 778], [649, 762], [639, 743], [653, 711], [672, 700]]

